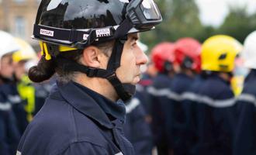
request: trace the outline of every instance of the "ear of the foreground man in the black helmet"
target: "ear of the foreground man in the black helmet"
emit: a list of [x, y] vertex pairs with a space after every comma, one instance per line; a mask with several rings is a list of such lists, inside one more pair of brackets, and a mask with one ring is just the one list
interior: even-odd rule
[[106, 56], [99, 48], [90, 46], [85, 48], [81, 57], [81, 63], [88, 67], [105, 68]]

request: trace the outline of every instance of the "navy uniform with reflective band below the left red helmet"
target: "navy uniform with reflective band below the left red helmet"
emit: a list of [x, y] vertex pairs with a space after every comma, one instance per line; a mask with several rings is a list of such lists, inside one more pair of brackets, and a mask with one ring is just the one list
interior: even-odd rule
[[152, 86], [147, 88], [151, 100], [152, 132], [154, 143], [157, 146], [158, 154], [167, 154], [171, 143], [167, 141], [166, 119], [164, 107], [168, 104], [167, 94], [169, 92], [171, 78], [165, 74], [157, 74], [154, 77]]

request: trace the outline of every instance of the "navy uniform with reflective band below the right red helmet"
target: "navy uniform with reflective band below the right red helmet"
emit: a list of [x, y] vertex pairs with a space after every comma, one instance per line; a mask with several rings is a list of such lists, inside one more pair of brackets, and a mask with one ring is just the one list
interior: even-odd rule
[[169, 104], [165, 107], [167, 117], [168, 143], [173, 143], [175, 154], [187, 154], [185, 146], [185, 109], [182, 106], [182, 93], [189, 89], [193, 78], [186, 74], [176, 74], [171, 81]]

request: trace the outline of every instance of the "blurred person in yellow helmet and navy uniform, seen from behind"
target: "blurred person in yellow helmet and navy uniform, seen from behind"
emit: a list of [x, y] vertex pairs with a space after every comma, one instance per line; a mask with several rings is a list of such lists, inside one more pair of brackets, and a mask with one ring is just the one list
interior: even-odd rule
[[202, 43], [202, 71], [206, 79], [197, 96], [199, 140], [194, 154], [232, 154], [237, 117], [230, 79], [241, 50], [242, 45], [231, 36], [211, 36]]

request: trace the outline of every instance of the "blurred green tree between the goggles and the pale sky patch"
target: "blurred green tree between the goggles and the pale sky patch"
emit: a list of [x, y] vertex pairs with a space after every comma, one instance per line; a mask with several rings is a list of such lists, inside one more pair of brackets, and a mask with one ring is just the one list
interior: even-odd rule
[[203, 26], [194, 0], [158, 0], [157, 5], [163, 22], [154, 31], [141, 35], [149, 47], [161, 41], [174, 42], [185, 36], [201, 37]]

